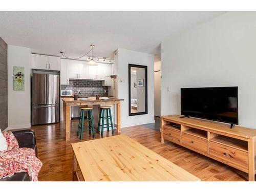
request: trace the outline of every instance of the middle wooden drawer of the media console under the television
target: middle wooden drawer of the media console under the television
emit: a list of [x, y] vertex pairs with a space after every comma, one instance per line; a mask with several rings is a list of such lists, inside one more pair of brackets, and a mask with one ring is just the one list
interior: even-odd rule
[[190, 146], [199, 150], [201, 152], [207, 153], [207, 140], [202, 139], [193, 135], [182, 133], [182, 143], [184, 145]]

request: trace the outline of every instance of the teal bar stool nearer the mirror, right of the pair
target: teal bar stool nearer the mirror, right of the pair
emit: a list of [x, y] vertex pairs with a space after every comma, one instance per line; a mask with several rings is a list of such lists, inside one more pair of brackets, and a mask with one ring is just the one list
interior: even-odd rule
[[[105, 116], [105, 112], [106, 112], [106, 116]], [[106, 124], [104, 124], [105, 120], [106, 120]], [[110, 122], [109, 122], [109, 120], [110, 120]], [[104, 125], [106, 125], [106, 126], [104, 126]], [[112, 115], [111, 115], [111, 106], [100, 106], [97, 133], [99, 133], [100, 126], [101, 126], [101, 137], [103, 137], [104, 128], [106, 127], [107, 130], [110, 131], [110, 126], [111, 126], [111, 130], [112, 130], [112, 135], [114, 135], [114, 126], [113, 126]]]

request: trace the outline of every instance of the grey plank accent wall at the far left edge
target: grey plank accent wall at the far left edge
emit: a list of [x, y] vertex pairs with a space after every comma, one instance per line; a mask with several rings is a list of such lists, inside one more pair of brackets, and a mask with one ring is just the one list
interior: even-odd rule
[[7, 44], [0, 37], [0, 129], [8, 127], [7, 100]]

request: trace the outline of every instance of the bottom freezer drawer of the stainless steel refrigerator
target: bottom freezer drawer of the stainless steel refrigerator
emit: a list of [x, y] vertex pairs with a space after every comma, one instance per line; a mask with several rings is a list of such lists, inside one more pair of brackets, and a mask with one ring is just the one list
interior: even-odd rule
[[59, 122], [59, 105], [33, 105], [32, 125]]

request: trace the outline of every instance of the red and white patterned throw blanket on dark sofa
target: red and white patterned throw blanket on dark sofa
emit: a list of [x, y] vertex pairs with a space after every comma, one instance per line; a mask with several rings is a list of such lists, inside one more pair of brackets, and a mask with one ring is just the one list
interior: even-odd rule
[[18, 148], [18, 142], [12, 132], [3, 132], [7, 141], [7, 151], [0, 152], [0, 179], [14, 173], [27, 172], [32, 181], [38, 181], [37, 175], [42, 162], [36, 158], [32, 148]]

